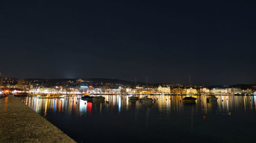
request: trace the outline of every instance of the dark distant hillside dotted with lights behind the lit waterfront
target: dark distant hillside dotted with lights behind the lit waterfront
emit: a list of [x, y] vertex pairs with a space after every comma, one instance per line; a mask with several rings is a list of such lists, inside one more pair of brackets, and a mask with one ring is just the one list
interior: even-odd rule
[[[15, 79], [15, 80], [14, 80]], [[18, 79], [17, 78], [8, 78], [7, 83], [10, 84], [16, 84]], [[88, 84], [88, 85], [93, 85], [94, 87], [100, 87], [103, 85], [108, 85], [109, 87], [117, 87], [119, 85], [123, 87], [130, 87], [130, 88], [135, 88], [135, 81], [127, 81], [127, 80], [122, 80], [122, 79], [114, 79], [114, 78], [82, 78], [84, 82], [80, 82], [77, 78], [60, 78], [60, 79], [43, 79], [43, 78], [26, 78], [25, 81], [26, 83], [29, 84], [36, 84], [36, 85], [42, 85], [45, 87], [51, 87], [55, 85], [69, 85], [71, 87], [76, 87], [81, 84]], [[146, 86], [145, 82], [137, 82], [136, 85], [140, 86]], [[170, 86], [171, 88], [189, 88], [189, 85], [180, 85], [180, 84], [171, 84], [171, 83], [148, 83], [149, 88], [156, 88], [159, 85], [161, 86]], [[207, 88], [213, 89], [213, 88], [241, 88], [241, 89], [256, 89], [255, 87], [256, 84], [235, 84], [235, 85], [211, 85], [208, 86]], [[193, 85], [193, 88], [202, 88], [201, 85]]]

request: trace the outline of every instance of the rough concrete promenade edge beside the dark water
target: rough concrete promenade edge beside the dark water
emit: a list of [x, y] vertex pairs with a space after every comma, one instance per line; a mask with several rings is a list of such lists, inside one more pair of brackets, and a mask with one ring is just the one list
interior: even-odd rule
[[0, 142], [75, 142], [13, 95], [0, 99]]

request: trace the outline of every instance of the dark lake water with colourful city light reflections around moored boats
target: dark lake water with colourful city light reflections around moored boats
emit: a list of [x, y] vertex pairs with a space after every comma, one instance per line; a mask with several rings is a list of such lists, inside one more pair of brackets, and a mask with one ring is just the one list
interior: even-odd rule
[[104, 101], [20, 98], [77, 142], [255, 142], [256, 96], [149, 96], [153, 103], [105, 95]]

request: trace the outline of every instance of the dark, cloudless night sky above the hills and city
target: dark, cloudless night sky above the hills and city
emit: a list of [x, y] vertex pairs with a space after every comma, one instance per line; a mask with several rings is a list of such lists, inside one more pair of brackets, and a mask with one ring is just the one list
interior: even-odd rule
[[1, 1], [5, 77], [256, 83], [256, 1]]

